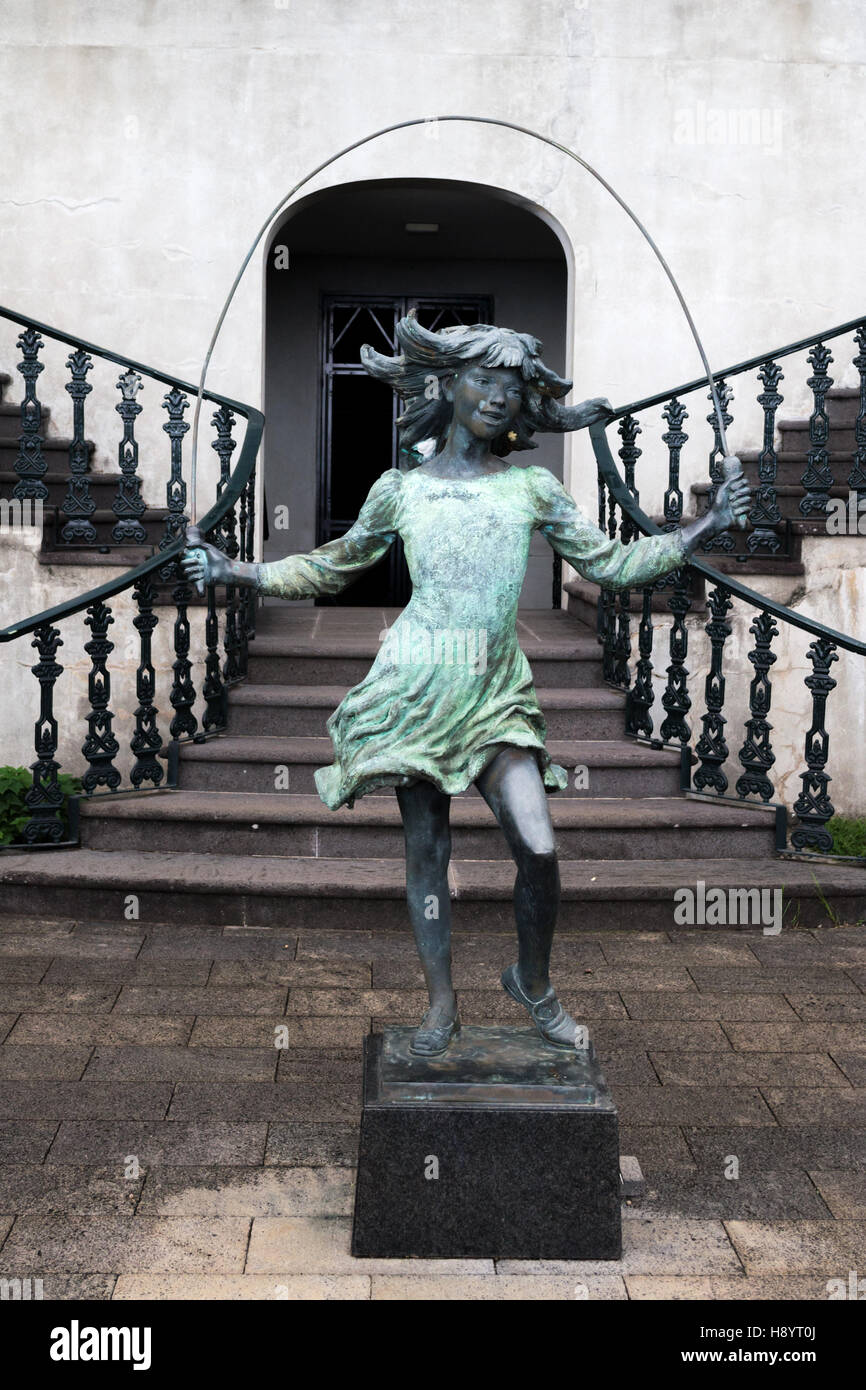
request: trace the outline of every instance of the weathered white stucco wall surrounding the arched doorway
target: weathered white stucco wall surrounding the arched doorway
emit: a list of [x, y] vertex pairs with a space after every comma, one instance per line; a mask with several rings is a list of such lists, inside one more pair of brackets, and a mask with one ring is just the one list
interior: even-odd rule
[[[862, 13], [860, 0], [503, 0], [495, 8], [463, 0], [7, 0], [1, 297], [195, 379], [240, 257], [295, 181], [377, 126], [471, 113], [534, 126], [598, 165], [663, 249], [719, 367], [866, 306]], [[382, 177], [495, 183], [562, 224], [574, 261], [575, 399], [606, 395], [617, 404], [699, 375], [649, 249], [557, 152], [488, 126], [427, 126], [364, 146], [309, 188]], [[257, 254], [209, 378], [252, 403], [261, 392], [261, 271]], [[0, 370], [17, 360], [14, 336], [0, 328]], [[61, 368], [46, 370], [40, 395], [65, 432]], [[835, 381], [853, 384], [852, 368]], [[806, 402], [799, 373], [783, 414], [803, 413]], [[110, 467], [114, 396], [95, 391], [92, 406], [97, 466]], [[153, 421], [143, 428], [163, 449], [153, 455], [158, 485], [143, 468], [158, 503], [168, 445]], [[730, 442], [755, 445], [748, 418]], [[649, 435], [641, 443], [649, 500], [660, 496], [663, 450]], [[571, 488], [594, 514], [588, 439], [573, 453]], [[705, 459], [703, 446], [685, 452], [687, 498]], [[203, 459], [206, 496], [214, 467]], [[851, 549], [845, 555], [851, 564]], [[838, 585], [831, 552], [822, 556], [831, 570], [809, 577], [810, 612], [833, 621], [822, 595]], [[4, 577], [6, 612], [17, 607], [10, 585], [32, 612], [31, 599], [54, 578], [21, 552], [4, 562]], [[51, 598], [81, 578], [65, 570]], [[862, 632], [862, 567], [845, 575], [845, 595]], [[22, 664], [8, 648], [4, 670], [7, 660]], [[856, 688], [852, 716], [862, 710], [862, 676]], [[4, 723], [11, 745], [29, 744], [32, 706], [7, 709]]]

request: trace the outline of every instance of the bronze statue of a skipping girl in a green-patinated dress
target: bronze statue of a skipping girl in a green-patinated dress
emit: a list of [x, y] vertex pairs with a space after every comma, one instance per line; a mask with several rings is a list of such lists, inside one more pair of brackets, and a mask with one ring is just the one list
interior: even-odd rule
[[[534, 449], [537, 431], [606, 418], [606, 400], [557, 404], [571, 382], [544, 364], [537, 338], [510, 328], [430, 332], [410, 314], [398, 342], [398, 356], [364, 348], [361, 360], [406, 403], [402, 442], [425, 445], [424, 461], [384, 473], [352, 530], [309, 555], [243, 564], [199, 545], [185, 552], [183, 570], [199, 585], [246, 584], [285, 599], [314, 598], [338, 594], [402, 537], [411, 599], [370, 673], [328, 720], [334, 763], [316, 773], [318, 792], [335, 809], [378, 787], [396, 790], [409, 916], [430, 994], [411, 1049], [435, 1056], [460, 1029], [450, 969], [449, 805], [473, 783], [478, 787], [517, 866], [518, 952], [502, 984], [548, 1044], [571, 1049], [577, 1024], [549, 979], [559, 867], [546, 803], [567, 776], [545, 749], [545, 721], [516, 631], [530, 538], [539, 530], [578, 574], [606, 588], [641, 588], [683, 566], [703, 538], [744, 524], [749, 489], [733, 460], [703, 517], [631, 545], [612, 541], [552, 473], [506, 461]], [[445, 641], [463, 635], [455, 644], [463, 660], [442, 660], [443, 634]]]

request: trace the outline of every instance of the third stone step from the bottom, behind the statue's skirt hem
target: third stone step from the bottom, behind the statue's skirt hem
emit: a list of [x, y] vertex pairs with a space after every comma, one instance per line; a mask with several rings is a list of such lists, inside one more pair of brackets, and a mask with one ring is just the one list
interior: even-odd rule
[[[548, 741], [548, 752], [562, 767], [587, 767], [591, 796], [674, 796], [680, 790], [678, 749], [653, 749], [627, 739]], [[334, 756], [329, 738], [239, 738], [218, 734], [203, 744], [179, 746], [178, 784], [182, 791], [272, 792], [278, 767], [288, 767], [291, 792], [314, 792], [313, 773]], [[569, 778], [570, 783], [573, 778]], [[392, 795], [384, 787], [373, 796]], [[464, 792], [477, 796], [471, 788]]]

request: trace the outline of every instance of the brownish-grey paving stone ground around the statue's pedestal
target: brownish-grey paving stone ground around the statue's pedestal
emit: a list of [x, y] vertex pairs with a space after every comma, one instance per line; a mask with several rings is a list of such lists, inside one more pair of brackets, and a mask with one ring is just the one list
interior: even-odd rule
[[[456, 938], [464, 1022], [525, 1022], [498, 986], [513, 949]], [[623, 1259], [353, 1259], [360, 1045], [423, 1012], [407, 934], [0, 919], [0, 1277], [90, 1300], [824, 1300], [866, 1275], [866, 927], [570, 934], [555, 977], [648, 1180]]]

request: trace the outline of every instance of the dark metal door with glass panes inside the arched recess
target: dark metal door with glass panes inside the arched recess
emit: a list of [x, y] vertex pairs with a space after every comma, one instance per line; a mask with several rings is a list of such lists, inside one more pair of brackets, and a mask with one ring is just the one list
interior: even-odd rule
[[[321, 428], [318, 448], [317, 545], [345, 535], [385, 468], [406, 467], [396, 418], [399, 402], [370, 377], [361, 343], [395, 353], [398, 321], [417, 310], [425, 328], [492, 321], [487, 295], [328, 295], [322, 302]], [[396, 542], [367, 574], [338, 598], [318, 603], [402, 607], [411, 594], [403, 545]]]

